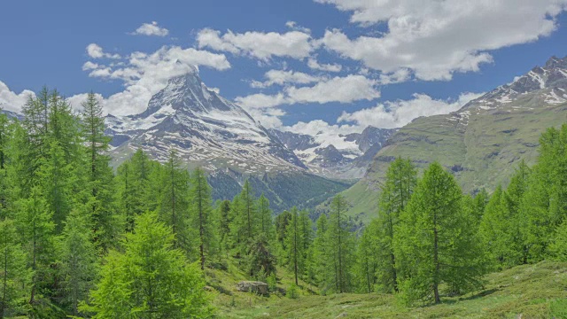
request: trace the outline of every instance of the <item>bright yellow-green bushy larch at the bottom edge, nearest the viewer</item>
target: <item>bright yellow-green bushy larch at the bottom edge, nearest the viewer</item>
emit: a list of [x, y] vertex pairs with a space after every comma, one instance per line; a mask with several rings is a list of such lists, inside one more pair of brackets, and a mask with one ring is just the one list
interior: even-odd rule
[[111, 251], [90, 292], [94, 318], [208, 318], [213, 315], [197, 263], [175, 248], [175, 234], [157, 214], [136, 217], [124, 252]]

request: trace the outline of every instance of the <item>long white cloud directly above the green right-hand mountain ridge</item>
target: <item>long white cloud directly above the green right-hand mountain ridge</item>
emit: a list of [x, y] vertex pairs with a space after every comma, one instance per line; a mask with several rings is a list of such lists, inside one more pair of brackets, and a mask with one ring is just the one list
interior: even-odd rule
[[353, 113], [343, 113], [338, 122], [353, 122], [361, 128], [372, 125], [377, 128], [400, 128], [420, 116], [446, 114], [459, 110], [480, 93], [463, 93], [457, 100], [433, 99], [425, 94], [414, 94], [410, 100], [385, 102], [372, 108]]

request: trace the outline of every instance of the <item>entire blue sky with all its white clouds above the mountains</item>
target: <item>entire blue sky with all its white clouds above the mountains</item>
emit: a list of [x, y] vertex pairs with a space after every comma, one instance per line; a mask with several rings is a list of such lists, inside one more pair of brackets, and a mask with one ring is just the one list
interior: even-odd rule
[[335, 128], [344, 131], [397, 127], [563, 58], [566, 3], [6, 2], [0, 103], [18, 108], [22, 91], [45, 84], [74, 102], [92, 89], [108, 112], [135, 113], [183, 73], [171, 66], [179, 59], [198, 64], [207, 86], [265, 126], [309, 133], [340, 119]]

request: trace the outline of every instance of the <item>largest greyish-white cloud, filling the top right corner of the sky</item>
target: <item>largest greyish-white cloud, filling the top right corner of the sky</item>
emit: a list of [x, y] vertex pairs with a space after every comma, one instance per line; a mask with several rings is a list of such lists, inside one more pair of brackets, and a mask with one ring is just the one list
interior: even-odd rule
[[550, 35], [567, 0], [316, 0], [353, 12], [351, 21], [384, 24], [381, 36], [349, 38], [327, 30], [323, 45], [386, 74], [410, 69], [418, 79], [450, 80], [493, 61], [489, 51]]

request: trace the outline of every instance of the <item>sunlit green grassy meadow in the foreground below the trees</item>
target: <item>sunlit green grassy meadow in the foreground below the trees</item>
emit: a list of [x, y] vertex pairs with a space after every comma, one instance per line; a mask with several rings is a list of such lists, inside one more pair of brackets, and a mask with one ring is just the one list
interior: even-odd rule
[[439, 305], [403, 307], [390, 294], [304, 295], [297, 300], [234, 292], [215, 301], [222, 318], [567, 318], [567, 263], [544, 261], [485, 276], [485, 289]]

